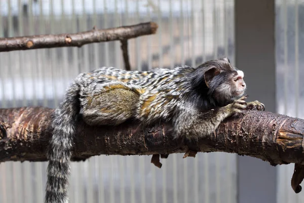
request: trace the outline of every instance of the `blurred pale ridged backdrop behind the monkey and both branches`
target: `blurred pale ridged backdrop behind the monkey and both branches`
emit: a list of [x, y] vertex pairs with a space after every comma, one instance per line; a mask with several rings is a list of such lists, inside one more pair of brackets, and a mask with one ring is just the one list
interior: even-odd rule
[[[227, 56], [238, 65], [241, 62], [236, 53], [243, 51], [236, 48], [236, 44], [242, 42], [237, 41], [242, 32], [236, 29], [235, 24], [243, 26], [235, 20], [236, 14], [242, 13], [236, 11], [240, 1], [0, 0], [0, 37], [74, 33], [90, 30], [93, 26], [101, 29], [154, 21], [159, 25], [156, 35], [129, 40], [132, 70], [197, 66], [220, 56]], [[260, 71], [266, 78], [273, 78], [270, 82], [274, 83], [274, 89], [270, 90], [273, 94], [265, 97], [251, 96], [262, 95], [261, 91], [268, 86], [263, 86], [262, 90], [254, 89], [259, 79], [244, 71], [245, 81], [251, 83], [248, 86], [248, 91], [252, 92], [250, 100], [258, 99], [264, 103], [264, 98], [269, 111], [304, 118], [304, 111], [299, 108], [304, 102], [304, 89], [300, 88], [304, 80], [299, 79], [304, 76], [301, 59], [304, 53], [304, 24], [301, 23], [304, 1], [273, 0], [269, 1], [270, 5], [260, 0], [256, 4], [258, 2], [265, 11], [272, 8], [273, 2], [274, 10], [266, 13], [274, 18], [274, 57], [269, 60], [275, 65], [269, 69], [271, 71], [267, 71], [266, 66], [248, 72]], [[250, 13], [251, 7], [247, 9]], [[242, 11], [247, 12], [245, 9]], [[256, 30], [264, 33], [263, 29]], [[250, 51], [248, 49], [248, 54]], [[2, 52], [0, 64], [1, 108], [37, 105], [55, 108], [63, 99], [68, 84], [79, 73], [101, 66], [124, 69], [119, 41], [82, 48]], [[244, 70], [243, 67], [238, 68]], [[269, 100], [274, 104], [270, 108], [267, 106]], [[255, 163], [250, 157], [240, 159], [236, 154], [220, 152], [199, 153], [195, 159], [182, 159], [182, 156], [172, 154], [162, 159], [161, 169], [150, 163], [151, 156], [101, 155], [85, 162], [73, 162], [70, 200], [75, 203], [304, 200], [304, 192], [295, 194], [291, 189], [291, 164], [273, 167], [258, 159], [254, 159]], [[250, 166], [247, 161], [253, 166], [245, 170], [243, 165]], [[46, 167], [47, 162], [1, 163], [0, 202], [43, 202]], [[256, 175], [257, 169], [266, 178]], [[242, 175], [244, 171], [247, 173], [245, 176]], [[248, 181], [248, 177], [257, 182]], [[259, 188], [262, 188], [262, 193]], [[246, 198], [248, 200], [244, 201]]]

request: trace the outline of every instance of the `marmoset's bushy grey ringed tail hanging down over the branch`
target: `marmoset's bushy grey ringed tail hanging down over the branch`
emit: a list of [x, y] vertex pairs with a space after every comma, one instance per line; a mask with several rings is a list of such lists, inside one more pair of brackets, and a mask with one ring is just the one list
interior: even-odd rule
[[73, 83], [65, 99], [52, 115], [52, 138], [47, 156], [46, 203], [68, 203], [67, 186], [70, 174], [70, 158], [73, 150], [77, 117], [80, 113], [80, 87]]

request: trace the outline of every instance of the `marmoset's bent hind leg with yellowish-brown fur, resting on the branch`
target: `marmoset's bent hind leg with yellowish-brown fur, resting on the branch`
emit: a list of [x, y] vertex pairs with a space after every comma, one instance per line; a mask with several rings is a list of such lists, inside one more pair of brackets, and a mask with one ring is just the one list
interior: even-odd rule
[[87, 96], [83, 118], [89, 125], [118, 125], [134, 117], [139, 94], [129, 88], [113, 88]]

